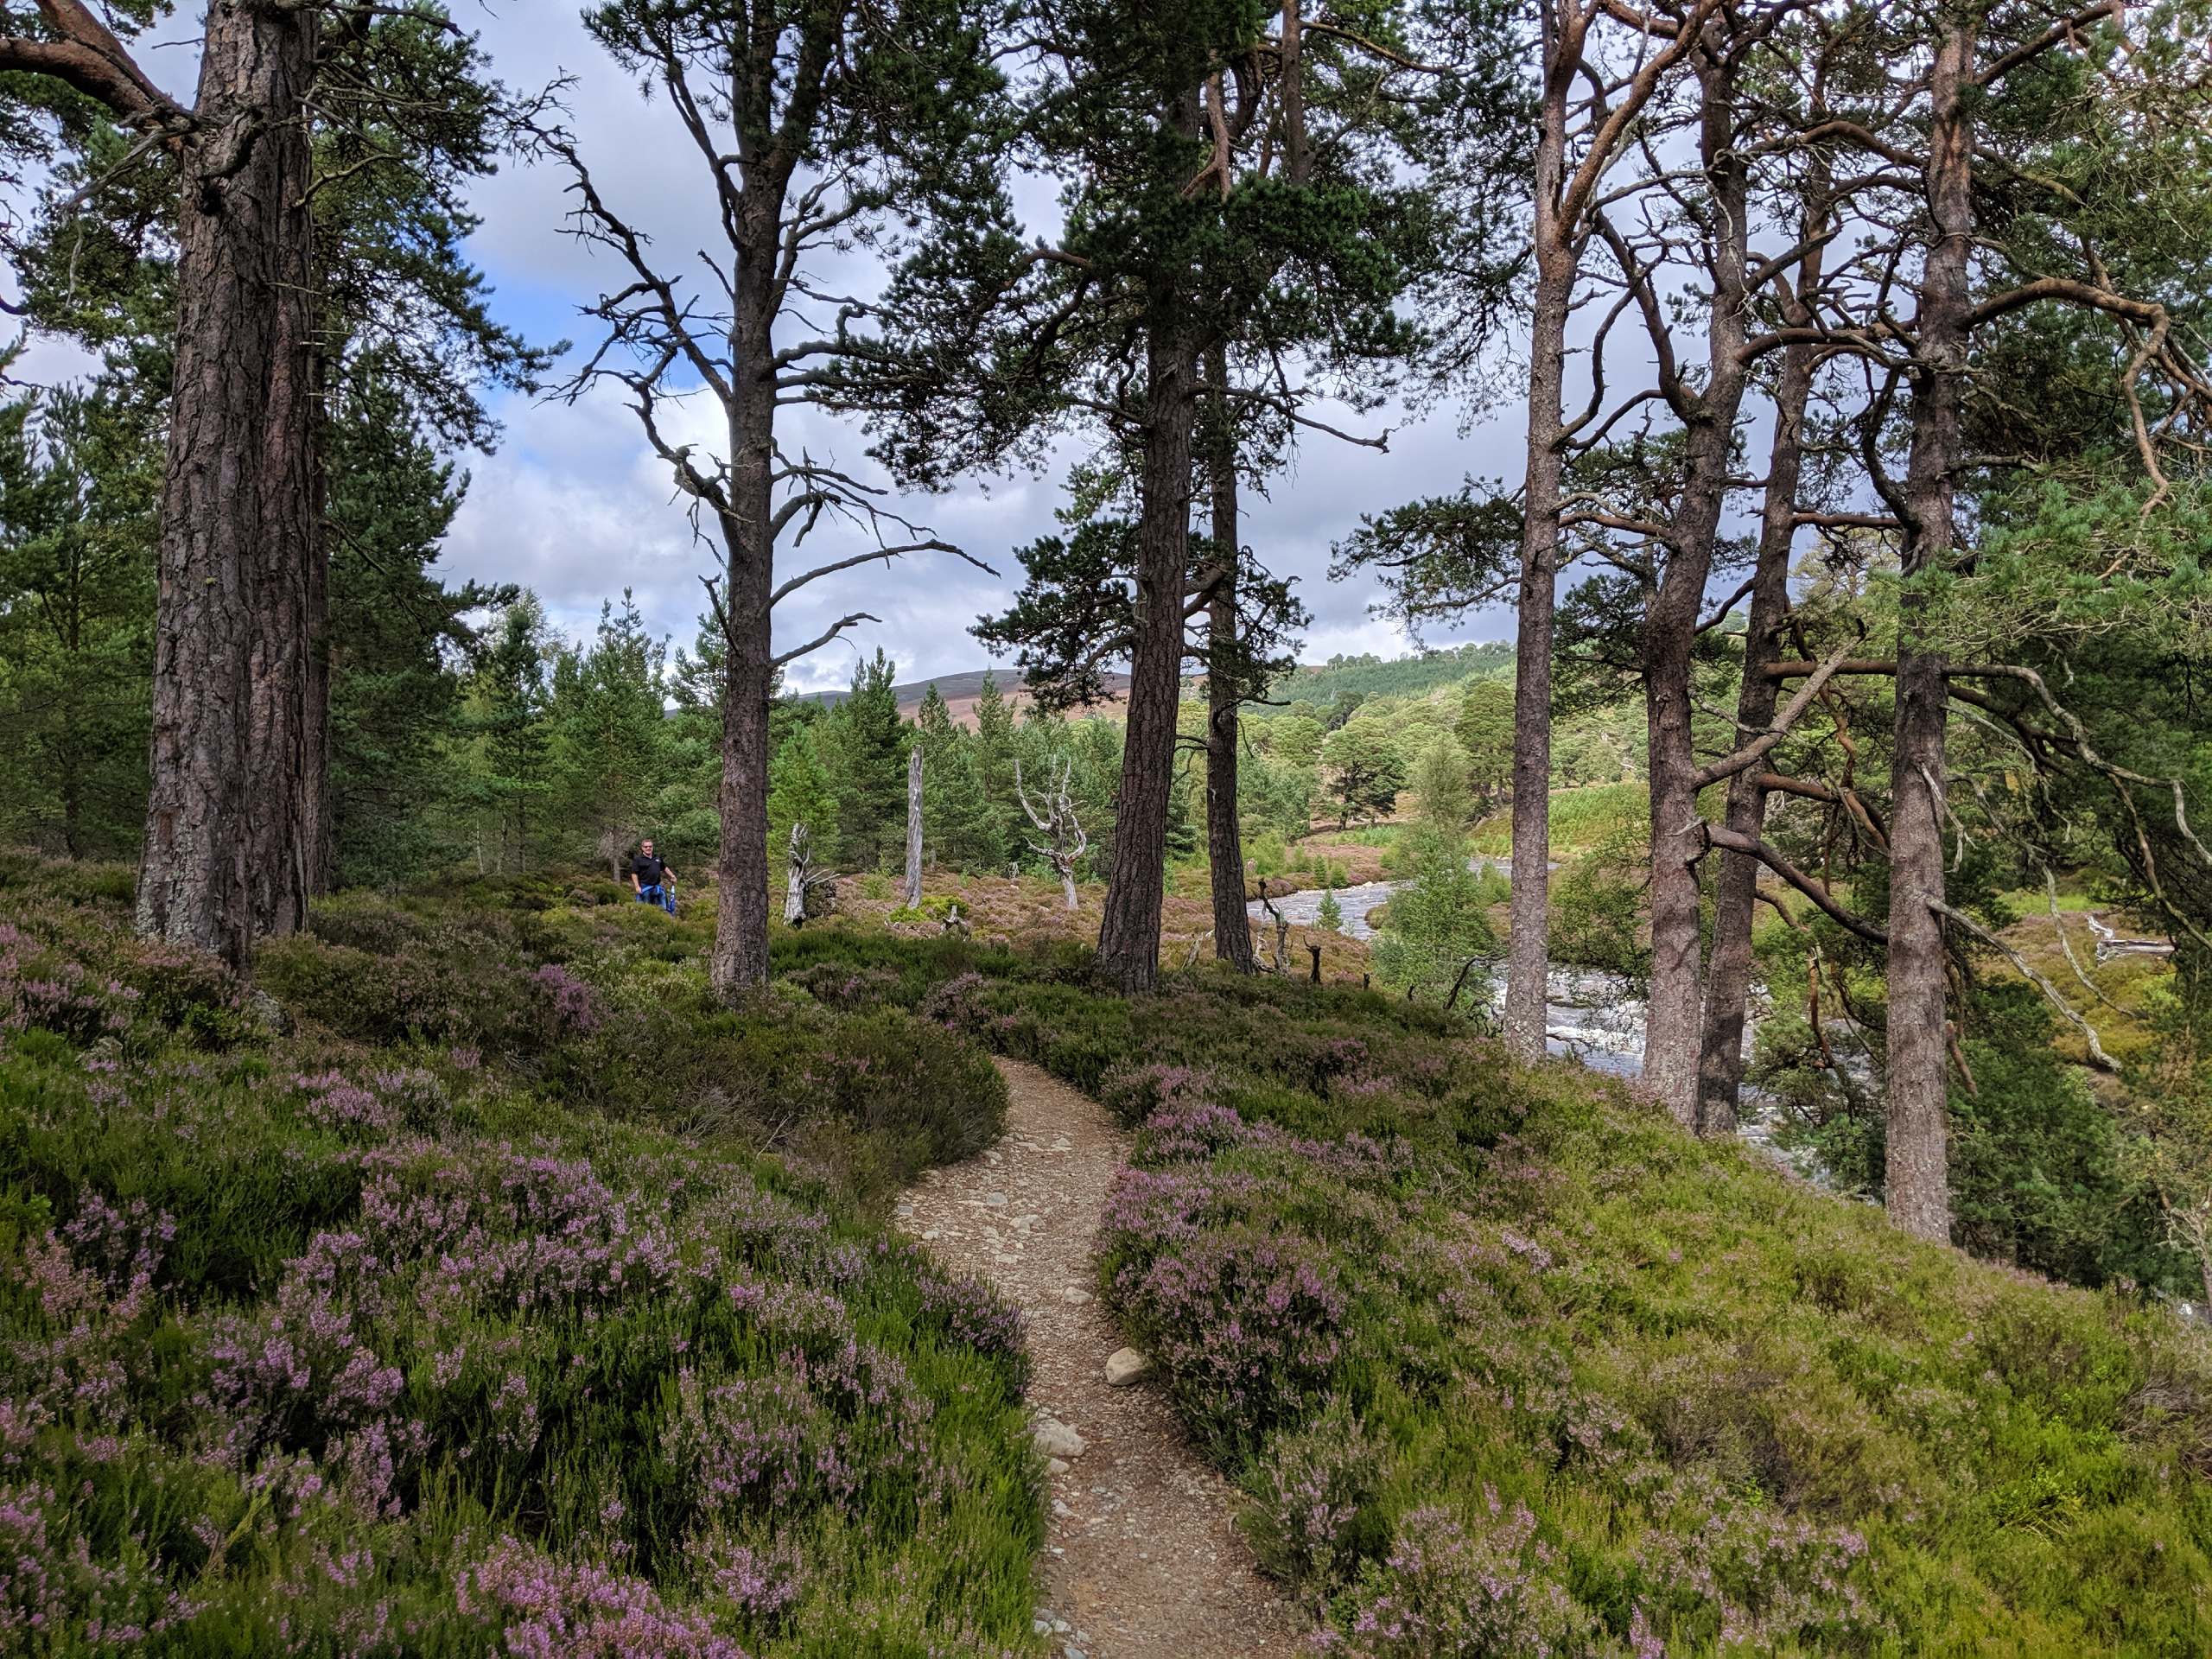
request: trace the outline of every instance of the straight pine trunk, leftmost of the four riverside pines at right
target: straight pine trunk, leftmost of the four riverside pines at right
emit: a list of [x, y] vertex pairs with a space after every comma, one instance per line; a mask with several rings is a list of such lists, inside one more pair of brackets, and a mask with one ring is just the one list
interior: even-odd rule
[[1528, 330], [1528, 458], [1524, 476], [1520, 615], [1513, 639], [1513, 900], [1506, 942], [1506, 1051], [1544, 1057], [1551, 973], [1551, 635], [1559, 562], [1562, 398], [1566, 316], [1575, 292], [1571, 228], [1559, 223], [1566, 95], [1573, 64], [1553, 64], [1546, 7], [1546, 86], [1535, 148], [1535, 305]]

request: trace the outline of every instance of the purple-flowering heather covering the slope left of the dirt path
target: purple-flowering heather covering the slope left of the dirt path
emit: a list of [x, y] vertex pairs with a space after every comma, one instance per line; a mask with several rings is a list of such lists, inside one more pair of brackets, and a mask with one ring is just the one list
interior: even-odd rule
[[[347, 907], [279, 951], [292, 1037], [97, 905], [0, 914], [0, 1650], [1033, 1648], [1018, 1318], [745, 1148], [801, 1099], [885, 1168], [967, 1146], [958, 1037], [732, 1015], [772, 1082], [672, 1135], [688, 1082], [602, 1071], [679, 969], [551, 960], [560, 907]], [[969, 1104], [894, 1121], [911, 1053]]]

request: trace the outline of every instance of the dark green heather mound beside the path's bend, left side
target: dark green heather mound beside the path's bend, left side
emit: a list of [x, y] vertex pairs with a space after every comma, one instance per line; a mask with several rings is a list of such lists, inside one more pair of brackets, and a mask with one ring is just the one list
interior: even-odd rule
[[706, 989], [706, 936], [644, 905], [518, 916], [349, 896], [263, 947], [259, 978], [343, 1037], [465, 1046], [571, 1106], [734, 1135], [872, 1201], [998, 1137], [1004, 1084], [971, 1042], [898, 1006], [902, 975], [823, 962], [790, 978], [794, 995], [730, 1011]]

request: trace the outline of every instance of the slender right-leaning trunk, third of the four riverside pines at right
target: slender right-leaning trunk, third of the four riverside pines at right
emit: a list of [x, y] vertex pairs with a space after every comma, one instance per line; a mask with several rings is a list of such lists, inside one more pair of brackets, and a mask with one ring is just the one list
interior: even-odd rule
[[[1805, 234], [1827, 226], [1827, 170], [1816, 164], [1807, 190]], [[1796, 303], [1790, 323], [1809, 316], [1820, 288], [1820, 254], [1798, 265]], [[1745, 741], [1774, 723], [1781, 684], [1759, 672], [1770, 641], [1790, 613], [1790, 551], [1796, 544], [1796, 495], [1805, 469], [1805, 405], [1812, 400], [1814, 347], [1809, 341], [1783, 352], [1774, 387], [1774, 440], [1767, 447], [1767, 491], [1759, 515], [1759, 562], [1752, 566], [1752, 613], [1743, 633], [1743, 686], [1736, 692], [1736, 739]], [[1728, 781], [1723, 823], [1739, 836], [1759, 841], [1767, 821], [1767, 790], [1759, 768]], [[1705, 969], [1705, 1024], [1697, 1055], [1697, 1133], [1734, 1135], [1743, 1095], [1743, 1026], [1752, 998], [1752, 914], [1759, 905], [1759, 860], [1739, 852], [1721, 854], [1712, 894], [1712, 960]]]

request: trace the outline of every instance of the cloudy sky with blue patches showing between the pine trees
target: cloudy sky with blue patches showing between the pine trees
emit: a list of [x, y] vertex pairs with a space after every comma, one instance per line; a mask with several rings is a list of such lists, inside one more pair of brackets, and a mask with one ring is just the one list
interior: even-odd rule
[[[666, 108], [644, 100], [637, 84], [584, 33], [571, 4], [504, 4], [473, 20], [467, 4], [456, 4], [456, 18], [482, 29], [493, 71], [509, 86], [573, 77], [564, 102], [599, 190], [648, 228], [657, 248], [712, 246], [712, 192], [703, 164]], [[184, 80], [177, 91], [190, 93], [188, 49], [157, 49], [142, 58], [164, 80]], [[535, 341], [588, 345], [588, 319], [577, 316], [577, 305], [626, 276], [562, 234], [564, 184], [557, 168], [520, 164], [484, 181], [476, 199], [484, 223], [471, 252], [498, 290], [502, 321]], [[1029, 195], [1044, 195], [1040, 206], [1048, 208], [1048, 192]], [[838, 279], [867, 283], [869, 274], [841, 272]], [[40, 352], [22, 367], [27, 378], [51, 378], [69, 372], [69, 358]], [[630, 588], [655, 633], [688, 644], [703, 608], [699, 575], [714, 568], [714, 555], [692, 540], [672, 500], [668, 471], [646, 449], [635, 416], [613, 394], [575, 405], [507, 396], [495, 414], [507, 429], [498, 453], [465, 458], [471, 487], [442, 560], [449, 577], [526, 582], [571, 633], [588, 630], [602, 599]], [[686, 436], [712, 449], [714, 411], [697, 405], [688, 420], [695, 429]], [[1464, 431], [1460, 407], [1442, 407], [1420, 420], [1391, 411], [1358, 427], [1374, 431], [1385, 422], [1391, 427], [1387, 453], [1314, 436], [1270, 498], [1245, 504], [1248, 544], [1272, 568], [1301, 577], [1301, 593], [1314, 611], [1303, 650], [1307, 661], [1411, 648], [1391, 624], [1367, 615], [1374, 595], [1365, 584], [1327, 580], [1329, 546], [1360, 513], [1455, 489], [1467, 473], [1520, 471], [1513, 407]], [[785, 449], [803, 445], [816, 460], [869, 471], [865, 440], [852, 427], [785, 411], [779, 431]], [[1053, 473], [1022, 473], [907, 502], [909, 518], [995, 566], [998, 577], [945, 555], [922, 555], [889, 571], [865, 566], [794, 595], [776, 611], [779, 648], [818, 635], [847, 611], [872, 611], [883, 622], [856, 628], [849, 646], [841, 641], [794, 664], [792, 684], [843, 684], [854, 657], [878, 644], [898, 661], [900, 679], [982, 666], [987, 653], [967, 630], [980, 613], [1004, 606], [1020, 582], [1011, 551], [1053, 529], [1060, 500]], [[838, 544], [830, 535], [825, 531], [810, 542], [816, 560], [860, 551], [856, 538]], [[1471, 617], [1460, 630], [1431, 633], [1429, 641], [1509, 635], [1511, 615], [1495, 611]]]

